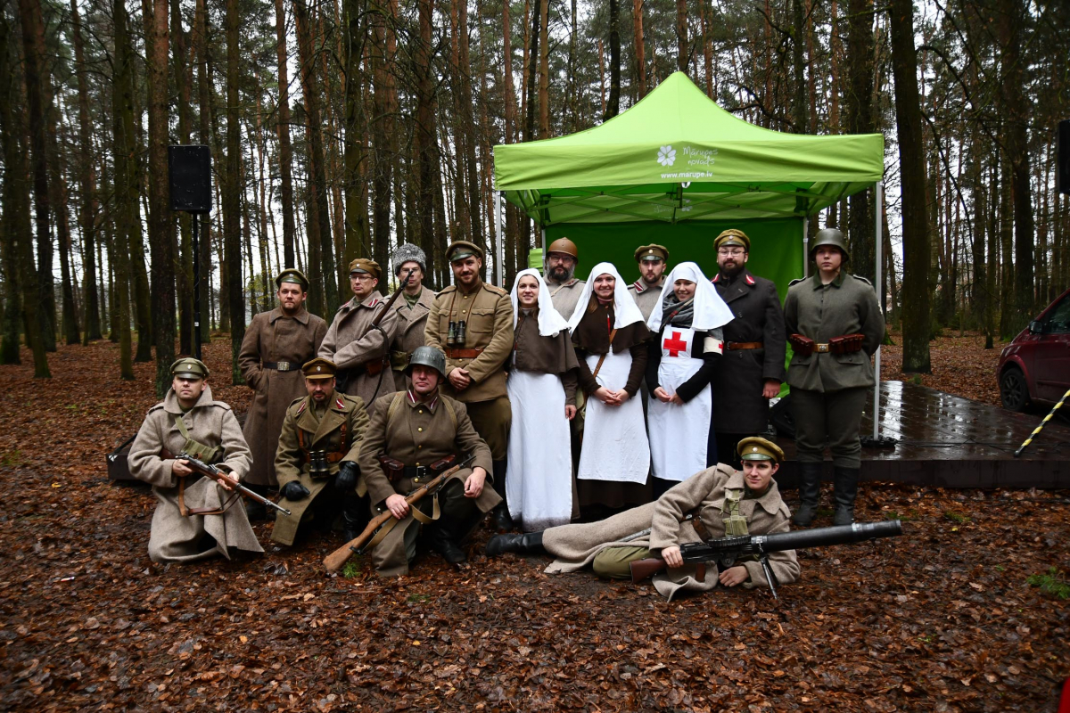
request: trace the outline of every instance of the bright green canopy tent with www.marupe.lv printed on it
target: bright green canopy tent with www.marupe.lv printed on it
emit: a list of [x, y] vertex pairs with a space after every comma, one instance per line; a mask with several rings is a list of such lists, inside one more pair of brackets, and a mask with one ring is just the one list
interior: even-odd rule
[[[672, 262], [694, 260], [708, 270], [716, 268], [713, 237], [739, 228], [754, 245], [749, 267], [773, 279], [783, 298], [788, 282], [807, 274], [806, 218], [873, 185], [880, 218], [883, 175], [882, 135], [754, 126], [676, 72], [599, 126], [494, 146], [499, 264], [504, 196], [538, 223], [544, 245], [575, 241], [587, 268], [602, 260], [631, 264], [636, 247], [660, 243]], [[876, 363], [880, 372], [880, 353]]]

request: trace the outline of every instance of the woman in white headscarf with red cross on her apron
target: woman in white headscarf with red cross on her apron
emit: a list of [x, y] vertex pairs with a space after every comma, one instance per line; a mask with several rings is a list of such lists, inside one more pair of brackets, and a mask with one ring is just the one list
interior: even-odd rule
[[721, 326], [733, 319], [717, 289], [693, 262], [676, 265], [646, 326], [646, 388], [655, 497], [717, 461], [709, 381], [723, 353]]

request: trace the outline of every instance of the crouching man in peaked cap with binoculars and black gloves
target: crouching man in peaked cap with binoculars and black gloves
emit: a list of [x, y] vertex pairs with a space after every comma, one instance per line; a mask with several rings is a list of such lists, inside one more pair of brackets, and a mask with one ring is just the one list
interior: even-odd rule
[[291, 545], [303, 523], [331, 527], [341, 511], [342, 538], [367, 524], [367, 499], [357, 494], [357, 456], [368, 428], [360, 397], [335, 390], [335, 365], [316, 358], [301, 369], [307, 394], [286, 409], [275, 451], [275, 475], [289, 515], [275, 517], [271, 539]]

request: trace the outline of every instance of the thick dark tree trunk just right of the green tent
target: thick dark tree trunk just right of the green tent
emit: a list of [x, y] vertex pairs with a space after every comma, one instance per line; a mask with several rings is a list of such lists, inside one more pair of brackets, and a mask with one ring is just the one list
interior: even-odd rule
[[930, 373], [929, 234], [926, 227], [924, 140], [914, 47], [914, 4], [891, 0], [891, 66], [903, 187], [903, 372]]

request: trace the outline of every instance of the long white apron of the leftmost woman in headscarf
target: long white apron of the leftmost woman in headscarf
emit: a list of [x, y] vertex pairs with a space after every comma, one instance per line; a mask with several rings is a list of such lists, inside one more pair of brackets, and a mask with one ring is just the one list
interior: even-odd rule
[[572, 450], [565, 387], [557, 374], [514, 369], [506, 384], [513, 409], [509, 515], [525, 532], [567, 525], [572, 516]]

